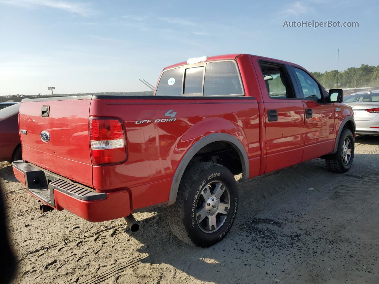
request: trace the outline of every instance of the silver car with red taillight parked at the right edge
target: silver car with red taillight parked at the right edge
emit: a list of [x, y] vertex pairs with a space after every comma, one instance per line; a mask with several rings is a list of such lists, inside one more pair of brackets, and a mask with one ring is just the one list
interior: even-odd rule
[[357, 134], [379, 134], [379, 90], [351, 94], [343, 102], [354, 111]]

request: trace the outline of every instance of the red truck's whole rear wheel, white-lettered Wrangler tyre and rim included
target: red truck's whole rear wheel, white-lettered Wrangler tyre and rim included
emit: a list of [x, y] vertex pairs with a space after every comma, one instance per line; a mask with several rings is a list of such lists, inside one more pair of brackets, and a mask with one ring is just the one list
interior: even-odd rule
[[237, 207], [232, 173], [219, 164], [197, 163], [182, 177], [176, 203], [168, 207], [168, 223], [184, 242], [210, 247], [229, 232]]

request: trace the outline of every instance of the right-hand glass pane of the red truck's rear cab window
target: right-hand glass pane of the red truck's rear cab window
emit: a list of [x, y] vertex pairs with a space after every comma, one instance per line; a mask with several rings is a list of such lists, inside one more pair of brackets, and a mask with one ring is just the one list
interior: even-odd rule
[[204, 76], [204, 96], [242, 94], [241, 81], [234, 62], [207, 63]]

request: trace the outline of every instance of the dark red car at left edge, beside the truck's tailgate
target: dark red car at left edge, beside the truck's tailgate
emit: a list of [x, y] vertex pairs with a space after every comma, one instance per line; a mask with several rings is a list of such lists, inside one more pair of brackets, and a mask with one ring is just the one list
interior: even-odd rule
[[10, 104], [0, 109], [0, 161], [9, 162], [22, 159], [19, 134], [20, 103]]

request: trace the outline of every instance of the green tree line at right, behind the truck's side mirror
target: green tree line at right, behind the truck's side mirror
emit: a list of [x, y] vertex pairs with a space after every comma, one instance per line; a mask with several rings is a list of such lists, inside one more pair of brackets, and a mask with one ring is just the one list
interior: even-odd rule
[[[326, 89], [337, 87], [337, 70], [311, 73]], [[379, 86], [379, 65], [362, 64], [360, 67], [350, 67], [338, 72], [338, 84], [338, 88], [377, 87]]]

